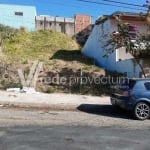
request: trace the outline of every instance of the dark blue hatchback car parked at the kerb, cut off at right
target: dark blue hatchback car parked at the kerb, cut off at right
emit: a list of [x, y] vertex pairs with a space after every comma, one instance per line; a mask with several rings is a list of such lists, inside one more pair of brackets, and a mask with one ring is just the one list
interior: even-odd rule
[[128, 79], [111, 96], [111, 104], [132, 111], [139, 120], [150, 118], [150, 79]]

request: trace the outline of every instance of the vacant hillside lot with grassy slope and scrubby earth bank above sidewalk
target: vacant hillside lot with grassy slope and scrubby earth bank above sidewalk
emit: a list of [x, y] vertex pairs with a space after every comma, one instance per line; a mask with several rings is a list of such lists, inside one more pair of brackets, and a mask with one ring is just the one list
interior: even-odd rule
[[[28, 75], [31, 65], [38, 60], [44, 64], [44, 72], [38, 78], [38, 91], [105, 94], [108, 87], [94, 82], [81, 83], [81, 76], [92, 79], [104, 75], [105, 71], [96, 67], [94, 60], [83, 56], [80, 49], [74, 39], [63, 33], [17, 31], [3, 41], [1, 65], [4, 65], [5, 70], [0, 68], [0, 88], [20, 86], [17, 69], [22, 68], [25, 75]], [[65, 77], [65, 83], [43, 83], [45, 77], [53, 78], [58, 75], [60, 78]]]

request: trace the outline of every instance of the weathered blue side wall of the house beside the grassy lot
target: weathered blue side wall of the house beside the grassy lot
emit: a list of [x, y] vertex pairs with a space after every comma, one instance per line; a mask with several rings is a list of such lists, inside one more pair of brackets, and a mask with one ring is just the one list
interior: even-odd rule
[[[107, 70], [124, 73], [128, 77], [139, 77], [141, 75], [141, 68], [135, 62], [134, 58], [118, 61], [118, 52], [116, 50], [109, 56], [105, 56], [107, 50], [104, 48], [104, 45], [109, 40], [110, 33], [115, 31], [116, 28], [116, 26], [113, 28], [112, 22], [110, 20], [95, 25], [91, 35], [89, 36], [86, 44], [82, 49], [82, 52], [83, 54], [94, 58], [96, 64], [100, 67], [103, 67]], [[126, 57], [126, 55], [129, 54], [124, 53], [121, 55]]]

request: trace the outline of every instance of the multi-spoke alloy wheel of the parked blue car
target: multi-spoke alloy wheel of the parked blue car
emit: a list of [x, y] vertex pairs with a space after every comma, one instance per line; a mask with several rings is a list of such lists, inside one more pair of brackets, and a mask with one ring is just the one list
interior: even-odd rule
[[138, 120], [148, 119], [150, 118], [150, 106], [145, 102], [139, 102], [136, 104], [133, 114]]

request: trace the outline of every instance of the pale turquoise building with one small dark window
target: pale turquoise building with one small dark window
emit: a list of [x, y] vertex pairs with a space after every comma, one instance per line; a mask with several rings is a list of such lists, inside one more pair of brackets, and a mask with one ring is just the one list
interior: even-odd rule
[[35, 16], [34, 6], [0, 4], [0, 24], [13, 28], [25, 27], [34, 31]]

